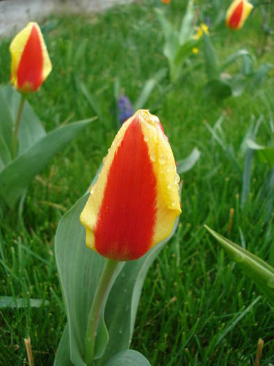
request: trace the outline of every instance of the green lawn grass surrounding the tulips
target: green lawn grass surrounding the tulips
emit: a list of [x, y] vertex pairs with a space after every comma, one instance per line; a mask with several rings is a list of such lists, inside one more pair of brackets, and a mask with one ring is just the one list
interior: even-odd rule
[[[179, 1], [172, 3], [170, 16], [176, 17], [181, 10]], [[28, 100], [45, 128], [49, 131], [66, 119], [95, 115], [79, 91], [79, 79], [97, 98], [102, 116], [31, 183], [24, 227], [17, 228], [15, 214], [9, 211], [0, 222], [1, 295], [49, 301], [39, 308], [1, 310], [1, 365], [28, 365], [24, 349], [28, 334], [35, 364], [53, 364], [66, 321], [54, 259], [58, 221], [86, 191], [117, 131], [114, 78], [119, 76], [127, 96], [136, 100], [145, 80], [167, 66], [152, 1], [90, 17], [53, 17], [45, 22], [44, 31], [54, 69], [39, 93]], [[258, 31], [258, 13], [239, 33], [220, 29], [213, 35], [218, 55], [223, 59], [243, 46], [254, 53]], [[9, 44], [9, 39], [0, 43], [3, 83], [10, 73]], [[266, 52], [261, 61], [271, 61], [271, 53]], [[260, 365], [269, 365], [274, 362], [271, 305], [229, 261], [203, 224], [236, 243], [243, 243], [244, 238], [248, 250], [274, 264], [273, 217], [265, 223], [267, 201], [260, 200], [266, 167], [253, 161], [250, 194], [241, 208], [244, 160], [239, 153], [252, 118], [264, 118], [257, 141], [269, 140], [273, 74], [261, 89], [223, 103], [204, 97], [205, 80], [203, 68], [186, 75], [152, 111], [163, 123], [176, 160], [188, 155], [193, 146], [198, 146], [202, 157], [182, 177], [179, 229], [147, 275], [131, 347], [142, 352], [152, 366], [254, 365], [261, 337], [265, 343]], [[147, 107], [159, 100], [167, 83], [166, 79], [155, 89]], [[240, 170], [203, 123], [213, 126], [221, 114], [227, 144], [236, 152]], [[229, 233], [230, 208], [234, 217]]]

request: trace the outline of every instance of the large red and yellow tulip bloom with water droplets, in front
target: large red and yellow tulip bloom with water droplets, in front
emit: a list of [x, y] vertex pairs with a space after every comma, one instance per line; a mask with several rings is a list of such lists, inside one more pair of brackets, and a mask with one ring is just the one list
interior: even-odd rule
[[159, 119], [129, 118], [113, 140], [83, 208], [86, 245], [108, 259], [138, 259], [167, 238], [182, 212], [179, 176]]

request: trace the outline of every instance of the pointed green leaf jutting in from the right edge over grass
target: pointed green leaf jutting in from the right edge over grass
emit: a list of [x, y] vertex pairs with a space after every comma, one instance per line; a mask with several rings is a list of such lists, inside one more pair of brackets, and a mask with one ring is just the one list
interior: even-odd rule
[[264, 292], [270, 303], [274, 305], [274, 268], [248, 250], [216, 233], [207, 225], [204, 225], [204, 227], [216, 238], [218, 243], [236, 261], [245, 274], [257, 284], [259, 290]]

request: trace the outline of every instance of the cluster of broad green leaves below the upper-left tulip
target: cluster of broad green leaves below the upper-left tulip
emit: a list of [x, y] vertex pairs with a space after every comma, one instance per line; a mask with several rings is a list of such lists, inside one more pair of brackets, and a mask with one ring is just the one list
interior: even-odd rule
[[1, 88], [0, 103], [3, 110], [0, 121], [0, 195], [10, 208], [14, 208], [35, 175], [45, 168], [58, 151], [79, 135], [92, 119], [70, 123], [46, 134], [42, 123], [26, 103], [19, 128], [19, 148], [15, 160], [11, 160], [10, 137], [19, 104], [17, 91], [11, 87]]

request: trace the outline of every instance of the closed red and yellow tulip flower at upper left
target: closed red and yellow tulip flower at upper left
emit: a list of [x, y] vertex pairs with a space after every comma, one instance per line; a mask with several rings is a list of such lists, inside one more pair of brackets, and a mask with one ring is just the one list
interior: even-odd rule
[[37, 23], [29, 23], [10, 44], [10, 82], [22, 93], [38, 91], [51, 72], [51, 61]]

